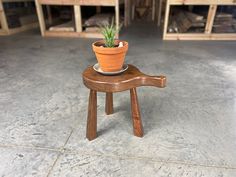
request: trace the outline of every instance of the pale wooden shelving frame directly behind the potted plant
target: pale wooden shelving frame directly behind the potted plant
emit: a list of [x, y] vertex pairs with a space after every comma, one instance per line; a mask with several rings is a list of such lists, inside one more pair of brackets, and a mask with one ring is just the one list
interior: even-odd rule
[[[42, 36], [45, 37], [84, 37], [84, 38], [101, 38], [102, 35], [97, 32], [85, 32], [82, 30], [82, 16], [81, 6], [112, 6], [115, 8], [115, 23], [116, 27], [119, 28], [119, 6], [125, 4], [125, 25], [129, 23], [129, 0], [35, 0], [37, 14], [39, 18], [40, 30]], [[74, 17], [75, 17], [75, 31], [65, 30], [64, 31], [53, 31], [47, 30], [45, 25], [45, 18], [42, 10], [42, 5], [69, 5], [73, 6]], [[118, 36], [117, 36], [118, 37]]]

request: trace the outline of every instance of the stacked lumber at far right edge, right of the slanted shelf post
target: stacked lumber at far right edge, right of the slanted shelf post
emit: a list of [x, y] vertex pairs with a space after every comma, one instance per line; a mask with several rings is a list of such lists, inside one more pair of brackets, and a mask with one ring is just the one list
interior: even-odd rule
[[235, 33], [236, 20], [232, 14], [218, 13], [213, 24], [213, 32], [215, 33]]

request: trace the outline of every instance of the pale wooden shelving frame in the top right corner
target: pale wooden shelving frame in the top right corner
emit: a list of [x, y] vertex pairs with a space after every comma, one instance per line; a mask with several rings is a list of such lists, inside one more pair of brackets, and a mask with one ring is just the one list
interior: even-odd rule
[[[207, 5], [208, 16], [203, 33], [168, 33], [170, 7], [180, 5]], [[167, 0], [163, 39], [164, 40], [236, 40], [236, 33], [213, 33], [213, 23], [218, 6], [235, 6], [236, 0]]]

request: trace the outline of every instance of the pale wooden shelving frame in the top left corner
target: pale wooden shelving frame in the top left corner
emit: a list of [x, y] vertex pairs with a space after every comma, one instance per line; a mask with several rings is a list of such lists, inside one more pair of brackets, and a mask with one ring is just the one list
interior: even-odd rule
[[34, 0], [0, 0], [0, 35], [11, 35], [29, 29], [37, 28], [39, 26], [39, 23], [35, 22], [22, 25], [16, 28], [9, 27], [3, 3], [16, 3], [16, 2], [34, 2]]

